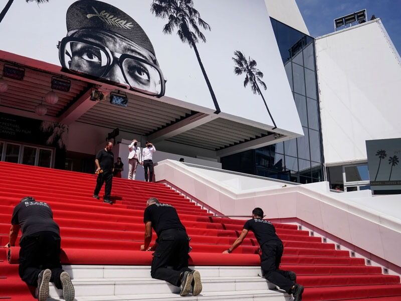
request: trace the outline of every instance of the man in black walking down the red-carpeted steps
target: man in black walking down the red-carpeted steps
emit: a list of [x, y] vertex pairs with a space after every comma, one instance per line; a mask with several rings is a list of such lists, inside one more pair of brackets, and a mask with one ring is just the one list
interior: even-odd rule
[[111, 184], [113, 182], [113, 165], [114, 165], [114, 155], [111, 152], [113, 149], [113, 142], [107, 142], [105, 147], [102, 150], [99, 150], [99, 153], [96, 155], [96, 173], [98, 174], [96, 180], [95, 192], [93, 193], [93, 197], [99, 199], [99, 192], [103, 186], [103, 183], [106, 182], [104, 187], [104, 197], [103, 202], [112, 204], [110, 201], [110, 193], [111, 193]]

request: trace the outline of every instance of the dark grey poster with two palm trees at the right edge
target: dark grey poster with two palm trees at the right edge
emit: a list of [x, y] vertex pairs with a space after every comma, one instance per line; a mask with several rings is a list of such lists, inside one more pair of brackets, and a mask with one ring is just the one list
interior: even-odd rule
[[401, 138], [366, 141], [372, 190], [401, 191]]

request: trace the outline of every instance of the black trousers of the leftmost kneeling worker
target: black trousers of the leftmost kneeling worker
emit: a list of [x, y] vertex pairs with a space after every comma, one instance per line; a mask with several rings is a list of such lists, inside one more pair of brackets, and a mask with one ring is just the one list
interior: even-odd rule
[[60, 236], [50, 231], [24, 237], [20, 241], [21, 279], [29, 285], [38, 286], [39, 273], [49, 268], [52, 270], [50, 281], [57, 288], [63, 288], [60, 280], [60, 274], [64, 271], [60, 263], [60, 242]]

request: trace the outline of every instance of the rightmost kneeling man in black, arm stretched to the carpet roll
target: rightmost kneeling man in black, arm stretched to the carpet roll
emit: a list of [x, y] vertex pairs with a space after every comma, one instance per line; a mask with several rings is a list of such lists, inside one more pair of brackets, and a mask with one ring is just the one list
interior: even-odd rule
[[262, 250], [261, 267], [265, 278], [289, 294], [292, 294], [294, 301], [302, 300], [304, 287], [295, 283], [296, 274], [292, 271], [279, 269], [284, 250], [283, 242], [277, 236], [273, 224], [263, 220], [263, 210], [261, 208], [255, 208], [252, 211], [252, 219], [245, 223], [240, 237], [223, 253], [233, 252], [244, 241], [250, 230], [255, 233]]

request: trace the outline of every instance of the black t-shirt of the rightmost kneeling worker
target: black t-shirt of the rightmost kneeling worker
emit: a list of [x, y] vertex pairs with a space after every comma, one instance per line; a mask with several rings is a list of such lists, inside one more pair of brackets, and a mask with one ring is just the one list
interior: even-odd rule
[[264, 244], [276, 245], [282, 243], [281, 239], [276, 234], [276, 229], [269, 221], [253, 218], [245, 223], [244, 229], [255, 233], [260, 246]]

